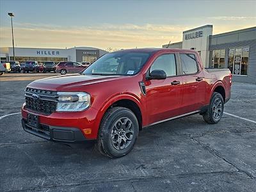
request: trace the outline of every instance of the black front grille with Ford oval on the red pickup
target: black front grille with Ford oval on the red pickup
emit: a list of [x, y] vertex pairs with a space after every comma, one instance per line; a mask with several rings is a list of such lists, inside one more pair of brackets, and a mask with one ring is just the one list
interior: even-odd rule
[[57, 92], [26, 88], [26, 108], [31, 111], [50, 115], [56, 110]]

